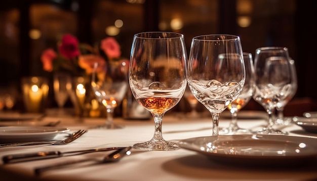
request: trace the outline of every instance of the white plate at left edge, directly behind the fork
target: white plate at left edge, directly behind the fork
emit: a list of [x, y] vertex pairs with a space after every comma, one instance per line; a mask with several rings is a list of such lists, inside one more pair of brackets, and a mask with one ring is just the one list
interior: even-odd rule
[[69, 131], [65, 127], [3, 126], [0, 127], [0, 143], [50, 141], [58, 133]]

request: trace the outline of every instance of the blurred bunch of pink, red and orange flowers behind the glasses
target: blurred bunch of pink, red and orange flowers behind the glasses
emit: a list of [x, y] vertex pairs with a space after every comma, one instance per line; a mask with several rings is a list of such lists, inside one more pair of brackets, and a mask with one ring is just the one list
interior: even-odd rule
[[71, 34], [65, 34], [58, 42], [57, 50], [48, 48], [41, 55], [45, 71], [67, 71], [73, 75], [89, 75], [95, 62], [102, 66], [111, 60], [129, 62], [121, 57], [120, 45], [113, 37], [106, 37], [100, 41], [98, 47], [92, 47], [79, 43]]

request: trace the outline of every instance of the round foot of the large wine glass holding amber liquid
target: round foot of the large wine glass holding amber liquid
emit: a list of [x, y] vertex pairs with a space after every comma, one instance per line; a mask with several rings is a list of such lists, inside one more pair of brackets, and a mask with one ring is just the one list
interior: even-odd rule
[[133, 145], [133, 148], [147, 151], [169, 151], [180, 149], [180, 147], [176, 143], [168, 142], [165, 140], [150, 140], [148, 142], [137, 143]]

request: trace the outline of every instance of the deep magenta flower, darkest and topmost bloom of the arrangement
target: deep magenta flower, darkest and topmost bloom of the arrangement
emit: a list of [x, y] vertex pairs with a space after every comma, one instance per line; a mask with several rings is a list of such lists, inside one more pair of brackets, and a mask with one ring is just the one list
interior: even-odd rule
[[62, 41], [59, 46], [59, 51], [63, 56], [65, 56], [68, 59], [72, 59], [80, 55], [77, 38], [72, 36], [71, 34], [65, 34], [62, 37]]

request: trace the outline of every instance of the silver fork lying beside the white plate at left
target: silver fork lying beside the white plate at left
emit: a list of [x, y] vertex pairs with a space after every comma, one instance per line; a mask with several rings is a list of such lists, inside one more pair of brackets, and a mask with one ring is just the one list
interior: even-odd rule
[[59, 142], [22, 142], [22, 143], [8, 143], [8, 144], [0, 144], [0, 148], [3, 147], [16, 147], [16, 146], [27, 146], [27, 145], [66, 145], [77, 138], [80, 138], [87, 130], [78, 130], [77, 132], [73, 133], [70, 137], [68, 137], [65, 140], [59, 141]]

